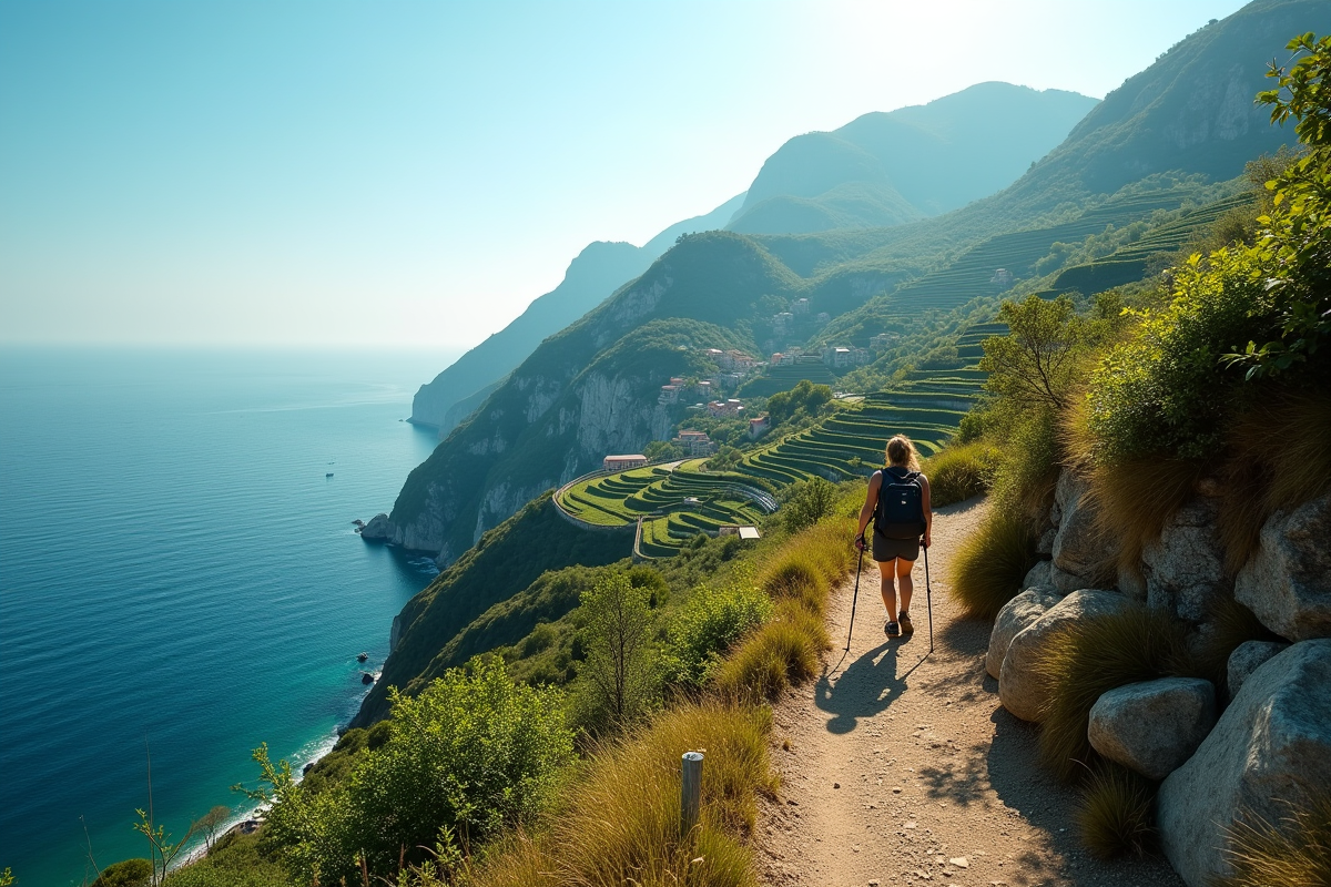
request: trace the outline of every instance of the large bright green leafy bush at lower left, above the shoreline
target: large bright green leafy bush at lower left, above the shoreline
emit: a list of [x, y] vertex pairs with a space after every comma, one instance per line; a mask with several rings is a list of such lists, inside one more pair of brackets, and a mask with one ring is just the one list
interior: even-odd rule
[[[479, 846], [528, 821], [572, 755], [562, 696], [514, 684], [500, 661], [451, 669], [411, 698], [394, 692], [393, 731], [366, 751], [345, 783], [319, 794], [295, 785], [290, 766], [256, 750], [273, 807], [265, 835], [294, 880], [359, 879], [421, 859], [421, 847]], [[253, 795], [254, 793], [252, 793]]]

